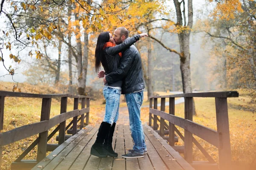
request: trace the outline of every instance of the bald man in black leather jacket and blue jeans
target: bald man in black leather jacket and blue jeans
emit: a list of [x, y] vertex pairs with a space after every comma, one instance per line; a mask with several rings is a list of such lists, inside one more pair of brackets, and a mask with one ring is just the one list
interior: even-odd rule
[[[124, 27], [116, 28], [114, 41], [116, 44], [124, 42], [129, 37], [129, 32]], [[146, 35], [147, 36], [147, 35]], [[140, 107], [143, 103], [144, 79], [140, 53], [131, 45], [130, 48], [122, 52], [119, 68], [106, 75], [104, 83], [113, 83], [123, 80], [122, 94], [125, 94], [126, 103], [129, 111], [131, 136], [134, 140], [133, 150], [128, 150], [128, 154], [122, 155], [123, 158], [142, 158], [147, 153], [145, 136], [140, 120]]]

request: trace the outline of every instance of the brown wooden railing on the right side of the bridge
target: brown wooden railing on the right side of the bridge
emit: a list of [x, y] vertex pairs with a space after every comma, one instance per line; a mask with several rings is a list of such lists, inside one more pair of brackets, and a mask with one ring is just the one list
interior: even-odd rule
[[[231, 147], [230, 147], [230, 131], [228, 122], [227, 111], [227, 98], [238, 97], [239, 94], [236, 91], [227, 92], [207, 92], [207, 93], [189, 93], [189, 94], [175, 94], [168, 96], [153, 96], [150, 98], [149, 104], [149, 126], [157, 130], [157, 116], [160, 116], [160, 136], [164, 136], [165, 128], [169, 130], [169, 145], [175, 146], [175, 132], [184, 141], [184, 156], [185, 160], [193, 164], [192, 156], [194, 143], [199, 150], [208, 159], [209, 163], [215, 163], [214, 159], [207, 153], [207, 151], [199, 144], [199, 142], [192, 136], [192, 134], [204, 139], [206, 142], [214, 145], [218, 148], [219, 154], [219, 168], [221, 170], [229, 169], [231, 165]], [[175, 97], [184, 97], [185, 100], [185, 119], [175, 116]], [[193, 97], [214, 97], [217, 119], [217, 131], [212, 130], [203, 125], [193, 121]], [[160, 111], [157, 110], [157, 99], [161, 98]], [[169, 113], [165, 112], [166, 98], [169, 98]], [[154, 100], [154, 109], [153, 106]], [[152, 114], [154, 117], [152, 117]], [[167, 120], [169, 125], [165, 122]], [[184, 129], [184, 136], [175, 127], [175, 125]], [[174, 147], [175, 148], [175, 147]], [[200, 165], [200, 164], [194, 164]]]

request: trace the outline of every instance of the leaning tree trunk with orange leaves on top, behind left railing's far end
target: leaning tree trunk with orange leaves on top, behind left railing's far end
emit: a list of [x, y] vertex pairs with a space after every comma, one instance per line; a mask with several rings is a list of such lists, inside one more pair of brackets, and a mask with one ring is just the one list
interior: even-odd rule
[[[75, 20], [78, 21], [78, 17], [75, 14]], [[85, 95], [84, 93], [84, 83], [83, 83], [83, 68], [82, 68], [82, 43], [81, 43], [81, 33], [80, 24], [76, 25], [76, 49], [77, 49], [77, 76], [78, 76], [78, 94]]]

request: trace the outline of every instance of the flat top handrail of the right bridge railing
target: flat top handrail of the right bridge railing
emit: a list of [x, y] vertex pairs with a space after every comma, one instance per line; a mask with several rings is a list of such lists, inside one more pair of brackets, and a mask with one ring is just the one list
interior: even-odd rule
[[171, 94], [166, 96], [151, 96], [149, 99], [154, 98], [169, 98], [169, 97], [238, 97], [239, 93], [237, 91], [220, 91], [220, 92], [205, 92], [205, 93], [185, 93], [185, 94]]

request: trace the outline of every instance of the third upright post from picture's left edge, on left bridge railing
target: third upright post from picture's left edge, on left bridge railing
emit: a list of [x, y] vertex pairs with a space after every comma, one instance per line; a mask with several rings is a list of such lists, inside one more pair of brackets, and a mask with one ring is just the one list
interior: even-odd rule
[[[67, 97], [61, 97], [61, 114], [67, 112]], [[66, 120], [60, 123], [58, 144], [65, 142]]]

